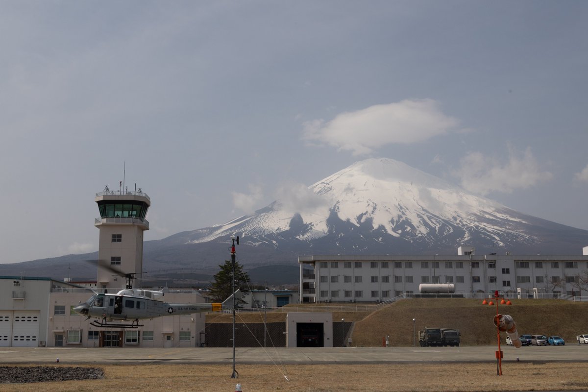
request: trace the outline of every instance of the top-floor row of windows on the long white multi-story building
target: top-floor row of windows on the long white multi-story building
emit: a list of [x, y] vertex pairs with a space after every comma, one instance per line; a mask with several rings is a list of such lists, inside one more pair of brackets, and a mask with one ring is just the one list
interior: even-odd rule
[[[339, 263], [340, 262], [320, 262], [320, 268], [328, 268], [329, 264], [330, 264], [331, 268], [339, 268]], [[343, 263], [343, 268], [352, 268], [352, 267], [353, 268], [362, 268], [363, 264], [365, 264], [363, 262], [342, 262], [342, 263]], [[393, 263], [394, 263], [394, 268], [402, 268], [403, 263], [404, 263], [405, 269], [410, 269], [413, 267], [412, 262], [393, 262]], [[456, 268], [463, 268], [463, 262], [444, 262], [444, 263], [445, 263], [444, 265], [445, 265], [446, 269], [452, 269], [454, 264], [455, 264]], [[420, 262], [421, 268], [429, 268], [429, 265], [431, 268], [439, 268], [440, 262]], [[536, 269], [543, 268], [543, 262], [534, 262], [534, 265], [535, 265]], [[383, 269], [389, 268], [389, 262], [379, 262], [379, 266], [380, 266], [380, 268], [383, 268]], [[472, 268], [479, 268], [480, 262], [471, 262], [471, 266], [472, 266]], [[496, 262], [487, 262], [487, 266], [489, 269], [495, 269]], [[550, 266], [552, 267], [552, 269], [559, 268], [560, 262], [550, 262]], [[378, 267], [378, 262], [370, 262], [370, 268], [377, 268], [377, 267]], [[517, 268], [530, 268], [530, 262], [516, 262], [516, 267]], [[564, 268], [577, 268], [578, 262], [563, 262], [563, 267]], [[588, 268], [588, 262], [586, 262], [586, 267]], [[505, 268], [503, 268], [502, 270], [504, 271]], [[506, 270], [508, 270], [508, 268], [506, 268]]]

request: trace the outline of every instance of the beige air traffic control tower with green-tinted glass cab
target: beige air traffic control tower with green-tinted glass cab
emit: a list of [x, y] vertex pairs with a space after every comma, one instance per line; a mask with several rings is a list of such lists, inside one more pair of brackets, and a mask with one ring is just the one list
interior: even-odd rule
[[141, 287], [143, 270], [143, 232], [149, 230], [145, 219], [151, 206], [149, 196], [139, 190], [111, 191], [108, 186], [96, 193], [100, 217], [94, 226], [100, 230], [98, 243], [97, 284], [102, 289], [124, 289], [124, 277], [117, 276], [108, 266], [121, 273], [136, 273], [135, 287]]

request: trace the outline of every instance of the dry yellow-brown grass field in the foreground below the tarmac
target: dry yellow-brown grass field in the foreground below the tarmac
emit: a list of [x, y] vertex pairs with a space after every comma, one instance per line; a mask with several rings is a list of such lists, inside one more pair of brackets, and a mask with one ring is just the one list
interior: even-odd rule
[[0, 391], [433, 392], [588, 390], [587, 363], [109, 365], [102, 380], [0, 384]]

